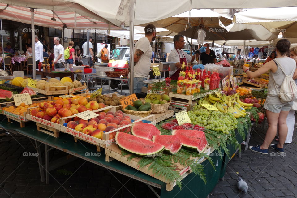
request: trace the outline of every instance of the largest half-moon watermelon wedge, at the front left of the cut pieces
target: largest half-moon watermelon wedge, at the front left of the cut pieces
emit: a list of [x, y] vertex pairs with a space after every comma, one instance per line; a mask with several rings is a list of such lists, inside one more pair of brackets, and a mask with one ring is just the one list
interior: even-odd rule
[[153, 155], [164, 150], [161, 144], [119, 131], [115, 135], [115, 141], [122, 149], [137, 155]]

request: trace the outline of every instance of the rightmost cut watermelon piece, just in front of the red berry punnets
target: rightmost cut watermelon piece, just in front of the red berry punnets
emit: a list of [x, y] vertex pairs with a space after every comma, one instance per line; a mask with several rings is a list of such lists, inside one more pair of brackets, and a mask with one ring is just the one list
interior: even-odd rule
[[207, 140], [203, 131], [173, 130], [172, 135], [178, 136], [187, 149], [197, 149], [199, 153], [202, 153], [207, 147]]

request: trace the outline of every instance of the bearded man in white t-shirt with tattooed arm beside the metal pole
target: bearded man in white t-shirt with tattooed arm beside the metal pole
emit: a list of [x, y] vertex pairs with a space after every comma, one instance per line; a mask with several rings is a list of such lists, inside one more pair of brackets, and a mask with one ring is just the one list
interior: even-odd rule
[[[144, 28], [145, 37], [139, 39], [134, 47], [134, 93], [141, 92], [141, 87], [144, 86], [144, 80], [147, 80], [151, 67], [152, 47], [150, 42], [156, 38], [156, 27], [153, 24], [148, 24]], [[130, 59], [130, 61], [132, 61]], [[122, 72], [123, 76], [128, 76], [129, 69]]]

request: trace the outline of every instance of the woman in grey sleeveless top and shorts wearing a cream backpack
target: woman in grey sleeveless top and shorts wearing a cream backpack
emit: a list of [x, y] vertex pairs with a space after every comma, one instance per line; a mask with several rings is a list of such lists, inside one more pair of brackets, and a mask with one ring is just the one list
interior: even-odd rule
[[[293, 74], [296, 69], [296, 62], [287, 56], [290, 49], [290, 42], [281, 39], [276, 44], [276, 55], [278, 58], [267, 62], [257, 71], [249, 71], [249, 67], [243, 66], [243, 71], [251, 78], [269, 71], [269, 84], [267, 98], [264, 103], [266, 109], [268, 129], [262, 145], [250, 146], [249, 148], [262, 154], [268, 154], [268, 147], [284, 153], [283, 145], [288, 133], [286, 118], [291, 110], [293, 101], [296, 98], [296, 84]], [[278, 129], [278, 144], [271, 144]]]

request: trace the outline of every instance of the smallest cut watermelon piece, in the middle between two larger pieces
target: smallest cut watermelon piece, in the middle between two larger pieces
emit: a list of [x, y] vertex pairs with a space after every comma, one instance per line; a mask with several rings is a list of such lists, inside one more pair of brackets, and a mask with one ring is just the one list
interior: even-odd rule
[[153, 142], [165, 146], [165, 150], [171, 154], [179, 152], [180, 148], [182, 148], [182, 142], [179, 140], [178, 136], [153, 136]]

